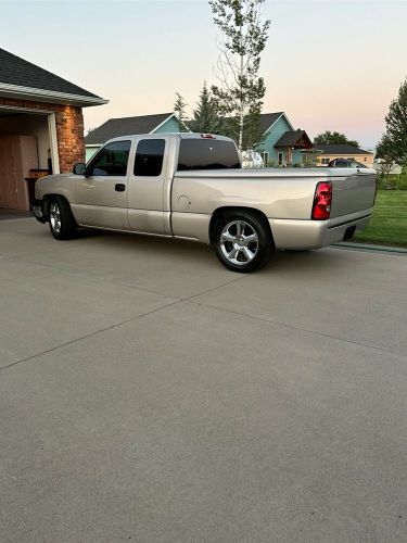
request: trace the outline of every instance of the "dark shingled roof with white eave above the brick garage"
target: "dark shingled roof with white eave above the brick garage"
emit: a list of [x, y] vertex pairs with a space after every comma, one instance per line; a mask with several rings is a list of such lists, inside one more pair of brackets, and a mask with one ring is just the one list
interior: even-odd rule
[[98, 105], [107, 100], [0, 48], [0, 96]]

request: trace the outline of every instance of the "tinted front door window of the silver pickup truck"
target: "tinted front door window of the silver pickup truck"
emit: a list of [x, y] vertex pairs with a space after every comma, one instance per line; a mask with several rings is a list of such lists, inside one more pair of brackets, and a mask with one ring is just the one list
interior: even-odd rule
[[113, 141], [103, 147], [88, 165], [89, 175], [125, 176], [131, 141]]

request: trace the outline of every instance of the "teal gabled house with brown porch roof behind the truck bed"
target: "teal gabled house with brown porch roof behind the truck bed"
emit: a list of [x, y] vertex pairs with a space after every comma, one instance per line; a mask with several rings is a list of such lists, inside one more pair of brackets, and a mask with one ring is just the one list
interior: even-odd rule
[[263, 141], [256, 146], [267, 166], [300, 166], [313, 156], [313, 143], [305, 130], [295, 130], [284, 112], [260, 115]]

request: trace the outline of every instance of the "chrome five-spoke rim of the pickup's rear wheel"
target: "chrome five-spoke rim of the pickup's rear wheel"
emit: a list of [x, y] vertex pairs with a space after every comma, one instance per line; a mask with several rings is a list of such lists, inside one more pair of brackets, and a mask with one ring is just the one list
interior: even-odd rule
[[231, 264], [249, 264], [258, 253], [256, 230], [245, 220], [228, 223], [220, 233], [220, 250]]

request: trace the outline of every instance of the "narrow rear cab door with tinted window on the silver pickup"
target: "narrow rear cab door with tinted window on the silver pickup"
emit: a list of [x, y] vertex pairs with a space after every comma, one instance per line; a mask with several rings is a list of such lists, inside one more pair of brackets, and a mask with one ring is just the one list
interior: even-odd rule
[[129, 175], [127, 202], [130, 230], [169, 235], [169, 192], [173, 181], [169, 157], [174, 138], [160, 134], [140, 137]]

